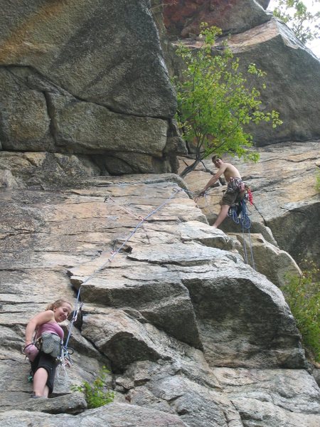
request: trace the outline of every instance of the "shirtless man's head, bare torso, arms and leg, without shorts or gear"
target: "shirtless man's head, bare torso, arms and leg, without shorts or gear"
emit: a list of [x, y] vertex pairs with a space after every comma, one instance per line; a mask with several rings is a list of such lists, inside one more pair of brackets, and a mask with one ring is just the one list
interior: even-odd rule
[[210, 186], [213, 186], [213, 184], [218, 181], [222, 174], [225, 176], [225, 180], [228, 182], [228, 187], [227, 191], [225, 191], [225, 194], [220, 201], [221, 207], [220, 212], [218, 214], [218, 218], [213, 224], [214, 228], [218, 228], [218, 226], [220, 226], [220, 223], [222, 223], [228, 215], [230, 206], [233, 206], [233, 204], [235, 204], [235, 201], [237, 201], [237, 199], [239, 199], [242, 194], [245, 194], [245, 184], [241, 179], [241, 175], [238, 169], [234, 167], [233, 164], [223, 162], [223, 160], [220, 159], [220, 157], [218, 156], [213, 156], [212, 161], [215, 167], [218, 167], [218, 172], [208, 181], [206, 186], [200, 191], [199, 196], [204, 196]]

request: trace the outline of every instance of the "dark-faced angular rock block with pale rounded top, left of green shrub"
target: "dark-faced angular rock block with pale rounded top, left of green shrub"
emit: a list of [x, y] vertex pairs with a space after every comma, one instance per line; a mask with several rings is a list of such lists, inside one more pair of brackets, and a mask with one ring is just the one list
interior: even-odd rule
[[[242, 270], [242, 273], [240, 273]], [[299, 332], [282, 292], [263, 276], [225, 263], [182, 274], [210, 366], [305, 367]], [[237, 313], [237, 320], [231, 320]], [[284, 332], [285, 331], [285, 332]], [[235, 362], [236, 361], [236, 362]]]

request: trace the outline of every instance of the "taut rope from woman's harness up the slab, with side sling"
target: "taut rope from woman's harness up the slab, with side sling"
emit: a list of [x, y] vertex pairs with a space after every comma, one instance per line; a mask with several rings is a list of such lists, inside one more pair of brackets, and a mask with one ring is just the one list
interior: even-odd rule
[[[65, 340], [65, 344], [63, 345], [63, 347], [61, 349], [60, 356], [57, 357], [57, 362], [59, 364], [59, 366], [57, 368], [57, 377], [58, 377], [58, 379], [65, 379], [66, 377], [68, 377], [68, 374], [67, 374], [67, 371], [65, 370], [65, 367], [68, 364], [73, 365], [72, 359], [70, 357], [70, 355], [73, 354], [73, 349], [71, 347], [68, 347], [68, 343], [69, 343], [71, 332], [73, 330], [73, 325], [77, 321], [78, 314], [79, 314], [79, 312], [80, 312], [80, 310], [82, 308], [82, 305], [83, 305], [83, 302], [80, 302], [80, 293], [81, 293], [82, 285], [85, 285], [85, 283], [87, 283], [94, 275], [96, 275], [101, 270], [103, 270], [107, 266], [108, 263], [112, 262], [113, 258], [117, 255], [117, 253], [119, 253], [122, 250], [122, 248], [124, 248], [124, 246], [130, 240], [130, 238], [132, 238], [132, 236], [134, 236], [134, 234], [137, 233], [137, 231], [142, 226], [142, 224], [145, 221], [147, 221], [150, 218], [150, 216], [154, 215], [163, 206], [165, 206], [167, 203], [169, 203], [169, 201], [171, 199], [173, 199], [176, 196], [176, 194], [178, 194], [181, 191], [186, 191], [186, 190], [183, 190], [183, 189], [181, 189], [179, 187], [174, 187], [173, 193], [171, 194], [171, 196], [169, 196], [168, 199], [166, 199], [161, 205], [159, 205], [156, 209], [154, 209], [153, 211], [151, 211], [145, 217], [143, 217], [143, 216], [137, 216], [133, 212], [129, 211], [129, 209], [124, 208], [124, 206], [118, 204], [110, 195], [108, 195], [108, 196], [105, 197], [105, 202], [112, 201], [112, 203], [117, 204], [117, 206], [120, 207], [121, 209], [123, 209], [124, 211], [126, 211], [127, 214], [132, 215], [135, 218], [139, 219], [139, 223], [137, 224], [136, 227], [134, 227], [134, 230], [131, 233], [129, 233], [129, 236], [127, 236], [127, 238], [124, 240], [124, 242], [122, 243], [122, 245], [119, 246], [119, 248], [117, 249], [117, 251], [112, 251], [112, 255], [110, 256], [110, 258], [108, 258], [105, 263], [103, 263], [102, 265], [100, 265], [99, 268], [97, 268], [96, 270], [94, 270], [91, 275], [87, 276], [87, 278], [81, 283], [81, 285], [80, 285], [80, 287], [78, 289], [78, 294], [77, 294], [76, 300], [75, 300], [75, 310], [73, 310], [73, 318], [72, 318], [72, 320], [70, 320], [70, 327], [69, 327], [69, 330], [68, 330], [68, 336], [67, 336], [67, 339]], [[61, 371], [63, 371], [63, 373]]]

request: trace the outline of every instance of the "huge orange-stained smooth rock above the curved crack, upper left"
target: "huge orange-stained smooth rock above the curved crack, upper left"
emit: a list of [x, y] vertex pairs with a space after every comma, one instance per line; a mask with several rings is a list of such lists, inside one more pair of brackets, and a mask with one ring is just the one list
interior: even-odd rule
[[149, 1], [46, 0], [2, 5], [1, 65], [24, 65], [81, 100], [170, 117], [174, 92]]

